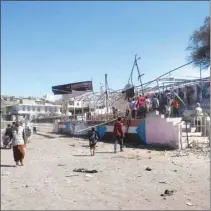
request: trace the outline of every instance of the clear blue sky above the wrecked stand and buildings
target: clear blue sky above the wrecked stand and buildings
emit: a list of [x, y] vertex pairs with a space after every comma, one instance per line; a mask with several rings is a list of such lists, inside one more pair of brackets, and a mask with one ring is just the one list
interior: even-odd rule
[[208, 1], [1, 4], [1, 92], [17, 96], [90, 79], [99, 91], [105, 73], [111, 88], [123, 88], [136, 53], [143, 81], [154, 79], [187, 62], [189, 37], [210, 12]]

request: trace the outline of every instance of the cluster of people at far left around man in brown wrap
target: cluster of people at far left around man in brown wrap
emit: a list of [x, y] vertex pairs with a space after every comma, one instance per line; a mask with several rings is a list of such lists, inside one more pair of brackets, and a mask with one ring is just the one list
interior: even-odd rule
[[12, 125], [8, 124], [4, 137], [3, 145], [6, 148], [10, 145], [13, 149], [13, 158], [15, 167], [19, 164], [24, 165], [23, 160], [25, 157], [25, 147], [27, 142], [30, 141], [31, 129], [25, 126], [22, 122], [16, 121]]

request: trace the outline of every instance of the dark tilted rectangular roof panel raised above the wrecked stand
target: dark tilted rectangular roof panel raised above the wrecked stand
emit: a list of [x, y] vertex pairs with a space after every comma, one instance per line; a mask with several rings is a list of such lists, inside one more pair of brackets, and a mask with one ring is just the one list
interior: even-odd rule
[[64, 84], [52, 87], [54, 95], [71, 94], [74, 91], [90, 92], [93, 91], [92, 81], [83, 81], [71, 84]]

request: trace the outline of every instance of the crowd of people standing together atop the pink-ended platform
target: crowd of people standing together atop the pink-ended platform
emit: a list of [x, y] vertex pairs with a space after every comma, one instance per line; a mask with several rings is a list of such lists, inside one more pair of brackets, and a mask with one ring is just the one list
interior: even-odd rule
[[182, 95], [179, 95], [166, 91], [164, 94], [154, 94], [152, 97], [144, 97], [143, 95], [134, 97], [129, 100], [129, 108], [126, 110], [126, 114], [131, 113], [133, 119], [139, 119], [145, 118], [150, 110], [157, 110], [166, 117], [170, 117], [172, 114], [174, 117], [179, 117], [183, 98]]

